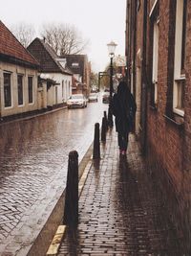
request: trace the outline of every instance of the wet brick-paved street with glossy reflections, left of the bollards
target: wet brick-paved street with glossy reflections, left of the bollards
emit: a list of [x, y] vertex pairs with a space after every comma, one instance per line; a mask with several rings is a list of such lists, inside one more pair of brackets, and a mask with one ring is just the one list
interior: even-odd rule
[[89, 104], [0, 126], [0, 241], [54, 179], [61, 176], [64, 188], [69, 151], [82, 159], [107, 108]]

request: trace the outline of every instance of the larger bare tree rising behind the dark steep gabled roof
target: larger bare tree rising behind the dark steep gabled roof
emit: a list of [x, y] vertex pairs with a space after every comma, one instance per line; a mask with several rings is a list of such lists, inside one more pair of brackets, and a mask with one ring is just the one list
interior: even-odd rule
[[45, 24], [41, 35], [46, 38], [57, 55], [80, 54], [85, 50], [88, 41], [85, 41], [74, 25]]

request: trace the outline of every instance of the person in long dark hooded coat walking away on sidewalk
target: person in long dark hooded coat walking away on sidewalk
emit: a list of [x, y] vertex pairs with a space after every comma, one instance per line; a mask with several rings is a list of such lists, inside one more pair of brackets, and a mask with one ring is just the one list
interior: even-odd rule
[[125, 155], [129, 132], [132, 131], [137, 110], [135, 99], [125, 81], [120, 81], [112, 100], [112, 112], [116, 117], [119, 153]]

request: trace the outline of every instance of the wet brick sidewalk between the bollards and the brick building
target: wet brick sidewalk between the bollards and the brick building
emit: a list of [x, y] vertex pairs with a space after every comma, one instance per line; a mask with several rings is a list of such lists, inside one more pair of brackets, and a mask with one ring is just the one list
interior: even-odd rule
[[115, 129], [108, 132], [102, 156], [79, 199], [78, 229], [68, 230], [58, 255], [182, 255], [134, 136], [119, 159]]

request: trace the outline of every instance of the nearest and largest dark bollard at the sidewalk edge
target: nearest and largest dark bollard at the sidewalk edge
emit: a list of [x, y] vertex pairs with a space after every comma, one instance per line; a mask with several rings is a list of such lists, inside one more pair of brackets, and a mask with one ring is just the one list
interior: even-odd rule
[[76, 227], [78, 224], [78, 153], [70, 151], [64, 207], [64, 224]]

